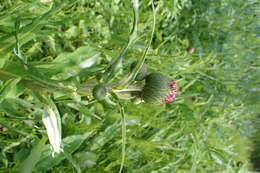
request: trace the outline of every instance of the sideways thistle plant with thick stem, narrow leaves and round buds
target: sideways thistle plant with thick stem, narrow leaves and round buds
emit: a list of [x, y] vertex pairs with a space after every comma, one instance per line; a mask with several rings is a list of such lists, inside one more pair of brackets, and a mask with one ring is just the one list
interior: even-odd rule
[[[57, 10], [59, 10], [57, 9], [57, 6], [59, 6], [59, 3], [54, 1], [51, 9], [46, 13], [46, 15], [44, 15], [44, 17], [47, 17], [49, 14], [55, 13]], [[87, 96], [89, 100], [92, 101], [89, 104], [101, 102], [102, 104], [109, 104], [110, 106], [118, 108], [122, 115], [122, 158], [119, 169], [119, 172], [122, 172], [126, 149], [126, 120], [124, 115], [124, 101], [121, 99], [131, 98], [131, 100], [133, 100], [136, 98], [141, 99], [147, 103], [155, 103], [155, 101], [151, 101], [151, 98], [148, 98], [149, 94], [147, 94], [147, 92], [153, 93], [155, 92], [155, 90], [151, 89], [154, 88], [154, 86], [151, 86], [150, 88], [150, 78], [152, 74], [147, 76], [148, 67], [145, 64], [146, 54], [152, 43], [152, 38], [155, 30], [155, 9], [153, 2], [151, 3], [151, 6], [153, 11], [153, 25], [150, 38], [147, 41], [147, 45], [142, 56], [139, 59], [137, 59], [134, 63], [132, 63], [132, 65], [130, 66], [129, 73], [127, 75], [122, 76], [121, 78], [117, 77], [117, 74], [122, 66], [122, 62], [124, 60], [124, 56], [127, 50], [136, 41], [138, 37], [138, 0], [132, 1], [134, 18], [127, 44], [122, 48], [118, 56], [115, 57], [111, 61], [111, 63], [108, 64], [107, 67], [97, 69], [93, 76], [88, 75], [88, 78], [90, 80], [85, 80], [83, 83], [78, 83], [76, 85], [70, 84], [70, 78], [72, 77], [74, 78], [74, 80], [77, 80], [76, 76], [81, 75], [82, 71], [84, 71], [85, 69], [94, 66], [98, 61], [98, 57], [101, 56], [101, 54], [99, 52], [95, 52], [93, 53], [93, 56], [87, 60], [81, 58], [77, 58], [77, 60], [74, 60], [70, 57], [62, 59], [60, 57], [57, 57], [54, 61], [57, 61], [57, 63], [65, 61], [64, 64], [71, 65], [71, 69], [66, 71], [62, 67], [62, 65], [57, 64], [52, 69], [53, 71], [56, 71], [57, 74], [60, 74], [65, 70], [68, 74], [65, 76], [55, 76], [53, 74], [48, 75], [47, 71], [42, 70], [41, 68], [37, 67], [37, 65], [31, 64], [27, 56], [22, 55], [22, 51], [20, 48], [22, 41], [20, 41], [20, 38], [23, 37], [21, 31], [24, 28], [20, 27], [20, 19], [17, 19], [15, 23], [14, 55], [17, 57], [18, 61], [7, 62], [5, 66], [0, 70], [0, 79], [4, 81], [9, 81], [19, 78], [18, 82], [23, 87], [28, 88], [32, 91], [32, 97], [36, 100], [36, 102], [42, 105], [42, 122], [46, 128], [47, 136], [52, 146], [52, 156], [56, 157], [55, 153], [57, 153], [57, 155], [64, 155], [64, 157], [71, 161], [71, 163], [75, 166], [78, 172], [80, 172], [78, 165], [67, 153], [66, 147], [63, 147], [61, 137], [62, 129], [60, 113], [52, 97], [57, 97], [55, 96], [55, 94], [59, 93], [58, 95], [62, 97], [70, 98], [74, 100], [76, 103], [80, 103], [81, 97]], [[33, 25], [36, 24], [37, 20], [35, 23], [33, 23]], [[26, 31], [27, 30], [25, 30], [25, 32]], [[13, 70], [8, 71], [9, 69]], [[91, 80], [96, 75], [99, 76], [98, 80]], [[145, 85], [143, 81], [144, 79], [146, 81]], [[165, 89], [163, 89], [163, 87], [165, 87]], [[172, 87], [175, 87], [175, 85], [172, 85]], [[167, 90], [168, 92], [169, 86], [163, 83], [160, 90]], [[160, 95], [157, 91], [153, 94], [155, 94], [159, 98], [165, 97], [165, 92], [161, 92], [161, 94], [163, 95]], [[173, 92], [173, 90], [171, 90], [171, 92]], [[167, 95], [167, 98], [165, 98], [165, 100], [161, 103], [170, 102], [172, 101], [173, 97], [175, 97], [175, 95], [173, 96], [174, 93], [167, 94], [170, 95]], [[122, 95], [124, 95], [124, 98], [120, 97]], [[154, 98], [154, 96], [151, 97]], [[159, 98], [157, 98], [157, 100]]]

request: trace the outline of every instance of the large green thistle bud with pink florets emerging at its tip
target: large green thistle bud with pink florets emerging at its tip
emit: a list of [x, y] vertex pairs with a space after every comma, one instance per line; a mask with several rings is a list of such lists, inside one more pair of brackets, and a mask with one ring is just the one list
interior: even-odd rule
[[176, 89], [176, 81], [160, 73], [151, 73], [145, 78], [141, 97], [146, 103], [169, 103], [176, 97]]

